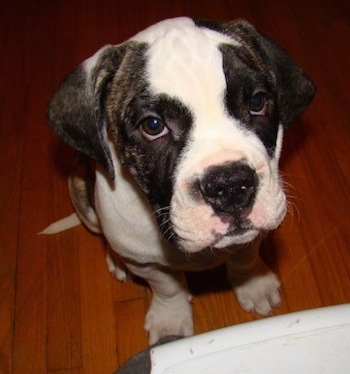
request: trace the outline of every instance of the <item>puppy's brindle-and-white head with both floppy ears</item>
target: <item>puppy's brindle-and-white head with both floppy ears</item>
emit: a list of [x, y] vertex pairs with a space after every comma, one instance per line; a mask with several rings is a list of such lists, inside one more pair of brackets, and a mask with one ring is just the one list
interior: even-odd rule
[[164, 236], [197, 252], [247, 243], [281, 223], [283, 132], [314, 93], [295, 62], [247, 22], [178, 18], [86, 60], [48, 116], [111, 180], [115, 162], [128, 167]]

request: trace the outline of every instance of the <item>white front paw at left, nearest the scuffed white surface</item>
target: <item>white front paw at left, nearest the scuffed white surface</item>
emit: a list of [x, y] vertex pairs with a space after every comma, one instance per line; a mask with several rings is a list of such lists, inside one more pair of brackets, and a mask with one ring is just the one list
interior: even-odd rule
[[156, 343], [164, 336], [193, 335], [190, 296], [187, 298], [175, 297], [171, 301], [153, 297], [146, 315], [144, 328], [149, 333], [150, 344]]

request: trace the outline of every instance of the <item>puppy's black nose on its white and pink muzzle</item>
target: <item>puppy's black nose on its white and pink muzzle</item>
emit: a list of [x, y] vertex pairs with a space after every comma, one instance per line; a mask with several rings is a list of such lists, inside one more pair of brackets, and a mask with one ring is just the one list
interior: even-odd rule
[[199, 182], [204, 200], [216, 212], [234, 216], [253, 205], [257, 185], [255, 171], [242, 162], [210, 167]]

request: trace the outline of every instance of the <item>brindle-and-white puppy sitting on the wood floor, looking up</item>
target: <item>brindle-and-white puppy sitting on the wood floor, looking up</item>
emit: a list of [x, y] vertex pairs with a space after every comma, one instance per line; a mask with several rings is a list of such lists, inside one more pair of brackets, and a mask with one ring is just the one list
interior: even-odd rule
[[243, 309], [268, 315], [279, 281], [259, 258], [286, 213], [283, 133], [314, 84], [249, 23], [175, 18], [108, 45], [64, 80], [48, 106], [80, 157], [76, 214], [118, 255], [109, 270], [145, 279], [150, 343], [193, 334], [184, 271], [226, 263]]

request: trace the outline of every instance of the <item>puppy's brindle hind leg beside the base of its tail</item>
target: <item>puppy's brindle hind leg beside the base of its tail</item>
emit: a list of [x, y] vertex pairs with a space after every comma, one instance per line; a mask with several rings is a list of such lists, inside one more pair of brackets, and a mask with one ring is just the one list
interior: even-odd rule
[[92, 160], [82, 155], [77, 157], [68, 187], [79, 218], [90, 231], [100, 234], [100, 222], [94, 208], [95, 168]]

